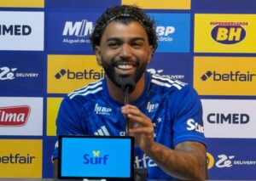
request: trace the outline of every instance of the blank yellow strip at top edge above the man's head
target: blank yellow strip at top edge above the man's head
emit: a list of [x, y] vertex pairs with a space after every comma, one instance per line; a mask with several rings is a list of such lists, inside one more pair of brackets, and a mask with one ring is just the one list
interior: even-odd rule
[[140, 8], [190, 9], [190, 0], [122, 0], [122, 4], [137, 4]]

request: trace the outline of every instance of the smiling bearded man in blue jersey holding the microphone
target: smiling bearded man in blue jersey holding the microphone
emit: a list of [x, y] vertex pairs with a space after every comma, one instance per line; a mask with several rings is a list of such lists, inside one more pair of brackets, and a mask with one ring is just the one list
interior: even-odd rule
[[[90, 41], [106, 76], [63, 99], [57, 135], [123, 135], [127, 116], [137, 146], [135, 167], [147, 167], [148, 178], [205, 180], [197, 93], [183, 82], [145, 71], [157, 48], [154, 21], [136, 6], [109, 8], [96, 21]], [[136, 84], [131, 105], [124, 104], [124, 82]], [[57, 148], [53, 158], [56, 173]]]

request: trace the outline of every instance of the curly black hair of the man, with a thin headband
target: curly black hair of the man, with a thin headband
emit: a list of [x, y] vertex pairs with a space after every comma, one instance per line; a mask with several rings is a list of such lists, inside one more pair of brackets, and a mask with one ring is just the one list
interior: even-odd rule
[[105, 27], [113, 20], [118, 20], [124, 24], [137, 21], [143, 25], [147, 32], [149, 44], [153, 46], [153, 52], [158, 47], [154, 20], [150, 19], [148, 14], [146, 14], [142, 8], [138, 8], [137, 5], [120, 5], [108, 8], [102, 16], [96, 20], [96, 25], [90, 34], [90, 43], [93, 50], [95, 50], [96, 46], [100, 45]]

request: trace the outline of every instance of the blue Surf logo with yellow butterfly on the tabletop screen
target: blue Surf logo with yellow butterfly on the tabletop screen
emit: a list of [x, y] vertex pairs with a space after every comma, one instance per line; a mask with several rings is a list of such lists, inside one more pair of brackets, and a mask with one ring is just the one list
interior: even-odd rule
[[90, 154], [84, 154], [84, 164], [92, 164], [92, 165], [106, 165], [108, 161], [109, 155], [106, 154], [104, 156], [100, 156], [100, 150], [93, 150], [92, 156]]

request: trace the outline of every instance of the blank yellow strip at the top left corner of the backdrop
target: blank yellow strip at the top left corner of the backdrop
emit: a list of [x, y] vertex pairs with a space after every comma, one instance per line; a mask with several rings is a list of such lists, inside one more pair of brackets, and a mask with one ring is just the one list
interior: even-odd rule
[[0, 7], [44, 8], [44, 0], [1, 0]]

